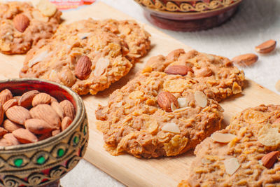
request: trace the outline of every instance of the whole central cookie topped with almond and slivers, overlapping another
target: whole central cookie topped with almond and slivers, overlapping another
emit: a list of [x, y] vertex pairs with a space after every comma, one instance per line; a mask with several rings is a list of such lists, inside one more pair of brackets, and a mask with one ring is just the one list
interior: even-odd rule
[[221, 106], [205, 84], [153, 71], [136, 76], [99, 106], [97, 128], [112, 155], [157, 158], [184, 153], [221, 127]]

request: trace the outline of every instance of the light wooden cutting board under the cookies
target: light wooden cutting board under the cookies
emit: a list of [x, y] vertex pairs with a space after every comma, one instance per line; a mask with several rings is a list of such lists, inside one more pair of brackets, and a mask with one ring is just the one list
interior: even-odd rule
[[[64, 23], [82, 20], [86, 18], [94, 19], [132, 19], [125, 13], [121, 13], [110, 6], [102, 3], [96, 3], [92, 6], [79, 8], [77, 11], [66, 11], [63, 14]], [[112, 156], [104, 148], [102, 133], [96, 130], [94, 111], [97, 104], [105, 105], [109, 95], [113, 90], [121, 88], [127, 81], [134, 77], [135, 72], [144, 67], [144, 62], [154, 55], [167, 55], [171, 50], [184, 48], [190, 50], [190, 47], [172, 39], [172, 37], [158, 31], [157, 29], [144, 25], [144, 28], [152, 35], [152, 49], [142, 63], [136, 64], [130, 73], [111, 88], [99, 92], [98, 95], [87, 95], [83, 97], [85, 108], [90, 124], [90, 141], [85, 154], [85, 160], [104, 170], [104, 172], [115, 177], [127, 186], [176, 186], [181, 179], [188, 178], [190, 163], [194, 155], [189, 151], [183, 155], [173, 158], [159, 159], [138, 159], [131, 155]], [[18, 78], [18, 72], [22, 67], [25, 55], [2, 55], [0, 53], [0, 79]], [[253, 81], [246, 81], [246, 88], [242, 94], [231, 97], [221, 103], [225, 109], [225, 124], [235, 113], [251, 106], [259, 104], [280, 104], [280, 96], [276, 93], [263, 88]]]

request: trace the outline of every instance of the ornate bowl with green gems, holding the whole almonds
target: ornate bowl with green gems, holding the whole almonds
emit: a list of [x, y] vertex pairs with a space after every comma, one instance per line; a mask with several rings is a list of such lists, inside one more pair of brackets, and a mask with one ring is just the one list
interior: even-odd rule
[[75, 167], [87, 148], [88, 125], [83, 100], [70, 88], [37, 78], [0, 81], [0, 91], [13, 95], [29, 90], [46, 92], [58, 101], [68, 99], [76, 116], [66, 130], [32, 144], [0, 147], [0, 186], [57, 186]]

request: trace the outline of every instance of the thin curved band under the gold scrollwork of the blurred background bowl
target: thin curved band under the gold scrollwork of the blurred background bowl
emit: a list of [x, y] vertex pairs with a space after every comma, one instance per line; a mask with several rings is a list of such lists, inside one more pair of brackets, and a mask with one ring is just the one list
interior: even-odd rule
[[[134, 0], [136, 1], [136, 0]], [[186, 1], [186, 0], [185, 0]], [[150, 8], [148, 6], [145, 6], [143, 4], [141, 4], [140, 2], [137, 2], [137, 4], [139, 4], [140, 6], [142, 6], [142, 8], [147, 8], [148, 11], [151, 11], [151, 12], [154, 12], [154, 13], [164, 13], [164, 14], [172, 14], [172, 15], [200, 15], [200, 14], [204, 14], [204, 13], [213, 13], [213, 12], [216, 12], [216, 11], [221, 11], [225, 8], [232, 8], [233, 6], [237, 6], [238, 4], [241, 3], [242, 0], [237, 0], [235, 1], [233, 4], [230, 4], [230, 6], [223, 6], [221, 8], [214, 8], [210, 11], [201, 11], [201, 12], [176, 12], [176, 11], [161, 11], [161, 10], [158, 10], [157, 8]], [[183, 2], [183, 1], [182, 1]]]

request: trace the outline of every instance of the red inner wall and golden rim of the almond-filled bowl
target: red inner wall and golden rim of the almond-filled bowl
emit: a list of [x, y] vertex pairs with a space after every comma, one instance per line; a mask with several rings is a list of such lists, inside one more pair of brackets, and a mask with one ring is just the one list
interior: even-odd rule
[[71, 131], [80, 120], [82, 120], [80, 117], [83, 116], [83, 102], [82, 99], [76, 94], [76, 92], [73, 92], [70, 88], [60, 85], [58, 83], [54, 83], [51, 81], [45, 81], [38, 78], [18, 78], [18, 79], [9, 79], [5, 81], [0, 81], [0, 91], [8, 89], [13, 93], [13, 96], [16, 95], [22, 95], [23, 93], [30, 91], [30, 90], [38, 90], [39, 92], [45, 92], [51, 95], [52, 97], [55, 97], [58, 102], [63, 101], [64, 99], [68, 99], [74, 106], [76, 111], [76, 116], [73, 119], [73, 122], [69, 127], [66, 128], [66, 130], [60, 132], [59, 134], [56, 134], [53, 137], [49, 137], [48, 139], [43, 139], [41, 141], [37, 141], [35, 143], [30, 144], [20, 144], [15, 146], [7, 146], [7, 147], [1, 147], [1, 151], [16, 151], [16, 150], [24, 150], [25, 148], [32, 148], [34, 146], [41, 146], [46, 143], [50, 143], [51, 141], [54, 141], [55, 139], [63, 139], [66, 134]]

